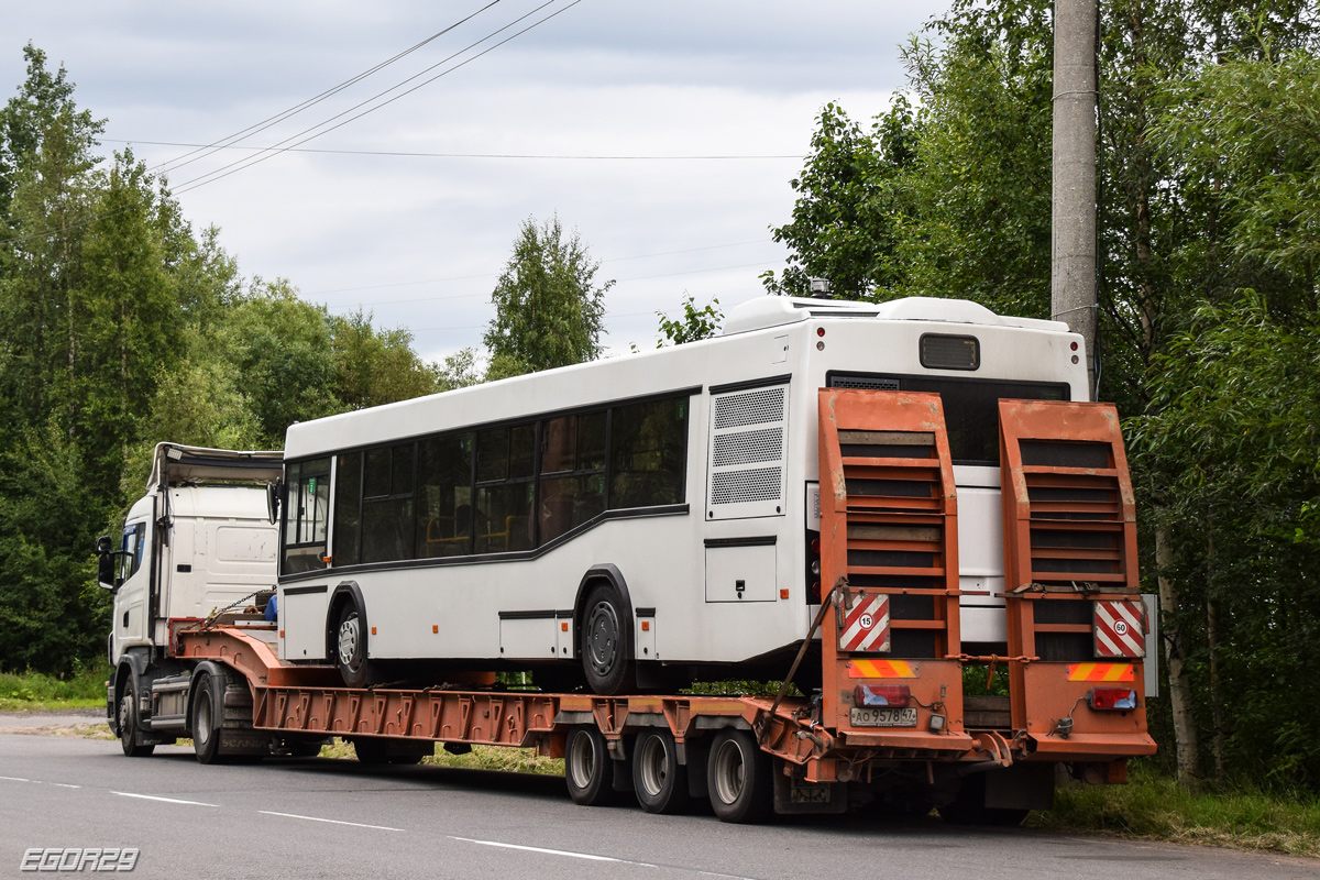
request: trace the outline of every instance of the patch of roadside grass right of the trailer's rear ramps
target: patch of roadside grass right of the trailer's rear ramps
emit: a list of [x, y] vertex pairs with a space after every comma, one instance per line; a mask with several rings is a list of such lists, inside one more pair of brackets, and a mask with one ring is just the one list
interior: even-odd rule
[[1189, 792], [1135, 764], [1127, 785], [1067, 785], [1028, 827], [1320, 856], [1320, 798], [1239, 785]]

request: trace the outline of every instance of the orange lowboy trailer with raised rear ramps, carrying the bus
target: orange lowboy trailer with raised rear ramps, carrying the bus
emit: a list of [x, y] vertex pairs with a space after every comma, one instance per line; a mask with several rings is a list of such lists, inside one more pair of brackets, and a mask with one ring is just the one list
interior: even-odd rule
[[[170, 617], [149, 660], [121, 664], [111, 726], [129, 755], [190, 735], [207, 764], [314, 755], [331, 736], [370, 763], [416, 763], [436, 743], [535, 748], [565, 759], [578, 803], [631, 792], [647, 811], [676, 813], [709, 798], [729, 822], [876, 802], [1016, 823], [1051, 806], [1060, 769], [1123, 782], [1127, 759], [1155, 743], [1143, 676], [1151, 625], [1114, 408], [1001, 401], [1007, 650], [985, 656], [960, 640], [957, 491], [940, 397], [818, 396], [813, 571], [828, 586], [785, 670], [787, 681], [804, 658], [820, 664], [818, 691], [554, 694], [504, 690], [483, 673], [354, 689], [333, 665], [281, 661], [279, 624], [261, 613], [227, 612]], [[904, 629], [933, 633], [933, 656], [895, 656]], [[987, 685], [1006, 677], [1007, 695], [965, 695], [995, 690], [977, 687], [982, 674]]]

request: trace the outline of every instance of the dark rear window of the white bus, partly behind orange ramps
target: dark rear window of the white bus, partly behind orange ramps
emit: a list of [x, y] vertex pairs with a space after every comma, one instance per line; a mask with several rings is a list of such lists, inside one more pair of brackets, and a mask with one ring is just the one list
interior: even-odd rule
[[834, 375], [830, 388], [915, 391], [939, 394], [954, 464], [999, 466], [1001, 400], [1069, 400], [1064, 383], [945, 379], [942, 376]]

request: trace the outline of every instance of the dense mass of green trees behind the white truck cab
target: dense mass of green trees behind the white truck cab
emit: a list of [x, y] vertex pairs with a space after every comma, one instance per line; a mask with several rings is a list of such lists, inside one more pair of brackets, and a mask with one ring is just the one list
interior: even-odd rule
[[96, 156], [63, 69], [24, 55], [0, 108], [0, 669], [65, 674], [104, 652], [92, 546], [156, 442], [279, 449], [293, 421], [430, 393], [440, 371], [407, 331], [244, 285], [164, 179]]

